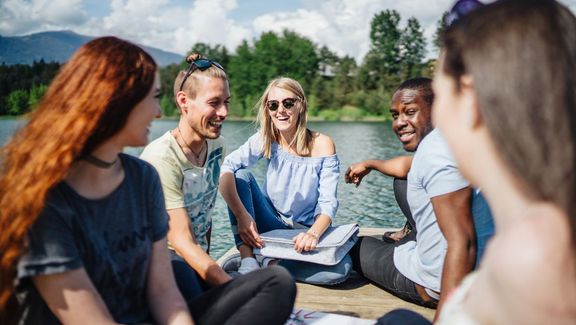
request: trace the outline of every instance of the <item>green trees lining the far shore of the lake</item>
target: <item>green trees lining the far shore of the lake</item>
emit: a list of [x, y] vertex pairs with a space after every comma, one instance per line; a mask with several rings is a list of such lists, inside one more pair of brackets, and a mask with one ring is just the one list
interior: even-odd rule
[[[267, 83], [278, 76], [294, 78], [304, 87], [311, 116], [325, 120], [387, 118], [388, 103], [404, 79], [431, 76], [433, 62], [425, 62], [426, 39], [419, 21], [410, 17], [400, 27], [395, 10], [374, 15], [370, 48], [362, 62], [338, 56], [293, 31], [266, 32], [253, 42], [244, 40], [234, 52], [223, 45], [194, 44], [190, 52], [224, 66], [230, 78], [230, 116], [251, 117]], [[434, 44], [445, 26], [439, 20]], [[58, 63], [0, 66], [0, 115], [21, 115], [38, 103]], [[176, 116], [173, 81], [186, 68], [183, 60], [160, 68], [161, 106], [165, 116]]]

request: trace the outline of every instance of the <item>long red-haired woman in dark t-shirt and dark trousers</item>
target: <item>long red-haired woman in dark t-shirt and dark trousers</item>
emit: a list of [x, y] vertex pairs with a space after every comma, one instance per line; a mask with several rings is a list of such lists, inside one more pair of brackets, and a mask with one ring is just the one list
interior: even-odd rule
[[159, 94], [148, 53], [115, 37], [94, 39], [62, 67], [2, 149], [0, 323], [287, 319], [296, 289], [281, 268], [188, 301], [178, 291], [158, 174], [122, 153], [148, 142], [161, 115]]

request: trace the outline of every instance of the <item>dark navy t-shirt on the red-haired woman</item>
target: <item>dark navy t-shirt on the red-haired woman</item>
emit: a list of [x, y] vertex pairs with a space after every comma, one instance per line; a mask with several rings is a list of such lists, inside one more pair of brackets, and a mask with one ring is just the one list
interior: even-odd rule
[[86, 199], [65, 182], [49, 192], [18, 263], [20, 323], [59, 323], [31, 277], [82, 267], [117, 322], [150, 319], [148, 266], [153, 243], [166, 236], [168, 218], [156, 170], [125, 154], [120, 160], [125, 178], [105, 198]]

